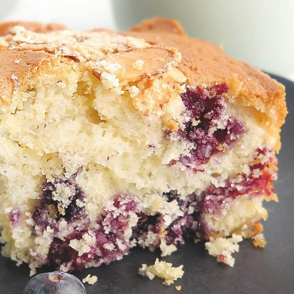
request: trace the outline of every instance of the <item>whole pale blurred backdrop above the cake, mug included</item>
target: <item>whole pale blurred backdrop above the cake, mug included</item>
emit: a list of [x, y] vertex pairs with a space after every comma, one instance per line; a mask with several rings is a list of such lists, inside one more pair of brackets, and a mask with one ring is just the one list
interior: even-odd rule
[[190, 36], [294, 81], [293, 0], [0, 0], [0, 22], [126, 30], [153, 16], [177, 19]]

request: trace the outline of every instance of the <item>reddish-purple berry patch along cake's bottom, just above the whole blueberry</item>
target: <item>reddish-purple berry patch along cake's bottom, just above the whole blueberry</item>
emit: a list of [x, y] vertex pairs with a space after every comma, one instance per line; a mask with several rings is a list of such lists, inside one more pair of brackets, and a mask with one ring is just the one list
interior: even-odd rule
[[[95, 225], [86, 224], [83, 230], [76, 228], [65, 240], [54, 238], [50, 245], [48, 260], [58, 267], [66, 264], [69, 270], [81, 271], [86, 263], [97, 261], [99, 264], [109, 264], [129, 252], [131, 243], [125, 232], [130, 228], [130, 220], [138, 213], [137, 203], [133, 196], [119, 195], [114, 197], [113, 206], [105, 209], [105, 215], [97, 220]], [[95, 237], [89, 252], [79, 256], [70, 247], [72, 239], [80, 240], [85, 233]]]

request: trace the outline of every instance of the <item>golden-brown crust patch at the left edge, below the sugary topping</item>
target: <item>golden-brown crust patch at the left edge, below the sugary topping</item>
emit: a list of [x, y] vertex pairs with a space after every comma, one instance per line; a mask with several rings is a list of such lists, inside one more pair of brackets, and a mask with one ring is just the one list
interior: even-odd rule
[[0, 105], [8, 106], [13, 90], [50, 59], [52, 55], [44, 51], [0, 51]]

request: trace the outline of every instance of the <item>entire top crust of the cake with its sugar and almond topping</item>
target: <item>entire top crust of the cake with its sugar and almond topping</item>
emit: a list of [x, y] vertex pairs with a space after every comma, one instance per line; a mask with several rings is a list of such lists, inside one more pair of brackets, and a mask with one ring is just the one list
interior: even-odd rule
[[[118, 70], [108, 66], [108, 61], [111, 63], [114, 60], [122, 66], [118, 74], [124, 78], [126, 75], [123, 73], [128, 72], [131, 67], [128, 63], [134, 61], [132, 55], [137, 54], [138, 59], [143, 60], [144, 66], [147, 67], [140, 69], [143, 72], [141, 75], [140, 70], [136, 69], [138, 76], [148, 76], [149, 68], [154, 68], [157, 64], [161, 67], [156, 71], [157, 74], [176, 67], [186, 76], [185, 82], [191, 86], [206, 87], [227, 83], [230, 87], [228, 95], [237, 101], [236, 103], [240, 101], [244, 106], [253, 106], [266, 113], [275, 128], [279, 128], [285, 120], [287, 110], [284, 86], [247, 63], [227, 56], [215, 45], [189, 38], [176, 21], [150, 19], [119, 34], [99, 29], [92, 32], [55, 31], [64, 27], [23, 23], [26, 28], [35, 31], [33, 32], [19, 26], [11, 29], [13, 24], [0, 26], [0, 34], [6, 34], [8, 31], [11, 33], [0, 38], [2, 106], [9, 105], [16, 87], [26, 83], [39, 68], [51, 63], [52, 59], [65, 57], [85, 64], [93, 70], [97, 78], [103, 71], [112, 74], [111, 70]], [[161, 48], [155, 50], [158, 52], [157, 58], [148, 57], [151, 48]], [[148, 78], [153, 76], [153, 73], [149, 73]], [[133, 79], [132, 77], [131, 82]]]

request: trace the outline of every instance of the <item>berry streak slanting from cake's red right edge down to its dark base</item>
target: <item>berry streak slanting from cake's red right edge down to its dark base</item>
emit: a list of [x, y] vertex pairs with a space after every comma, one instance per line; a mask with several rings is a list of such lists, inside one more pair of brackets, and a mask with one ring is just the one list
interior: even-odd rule
[[[268, 152], [266, 148], [258, 149], [255, 161], [260, 154], [265, 155]], [[274, 193], [272, 175], [275, 175], [275, 172], [276, 160], [270, 158], [267, 163], [258, 162], [250, 166], [249, 175], [243, 174], [238, 182], [229, 178], [226, 180], [225, 187], [216, 188], [211, 184], [201, 195], [192, 193], [185, 201], [177, 195], [176, 191], [166, 193], [168, 201], [176, 200], [184, 211], [184, 216], [177, 218], [166, 229], [166, 243], [178, 245], [189, 238], [205, 238], [210, 232], [206, 223], [203, 222], [203, 213], [220, 214], [222, 209], [229, 209], [233, 200], [239, 195], [251, 194], [252, 198], [272, 195]], [[187, 213], [189, 207], [193, 208], [192, 214]]]

